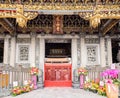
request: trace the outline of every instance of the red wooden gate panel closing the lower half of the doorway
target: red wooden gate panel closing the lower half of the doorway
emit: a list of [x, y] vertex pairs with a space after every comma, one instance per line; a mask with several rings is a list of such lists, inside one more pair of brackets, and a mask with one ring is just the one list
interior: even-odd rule
[[72, 86], [71, 64], [45, 63], [45, 86]]

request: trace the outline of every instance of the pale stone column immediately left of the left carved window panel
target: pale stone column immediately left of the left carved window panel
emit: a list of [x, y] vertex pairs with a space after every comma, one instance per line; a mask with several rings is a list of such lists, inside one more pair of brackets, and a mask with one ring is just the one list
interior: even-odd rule
[[10, 66], [15, 66], [15, 55], [16, 55], [16, 38], [11, 38], [11, 51], [10, 51]]

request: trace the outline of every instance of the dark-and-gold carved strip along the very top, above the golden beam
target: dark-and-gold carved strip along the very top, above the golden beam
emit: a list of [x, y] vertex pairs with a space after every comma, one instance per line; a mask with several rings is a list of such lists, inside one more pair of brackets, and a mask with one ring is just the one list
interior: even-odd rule
[[0, 3], [22, 3], [22, 4], [40, 4], [40, 3], [80, 3], [80, 4], [116, 4], [119, 0], [0, 0]]

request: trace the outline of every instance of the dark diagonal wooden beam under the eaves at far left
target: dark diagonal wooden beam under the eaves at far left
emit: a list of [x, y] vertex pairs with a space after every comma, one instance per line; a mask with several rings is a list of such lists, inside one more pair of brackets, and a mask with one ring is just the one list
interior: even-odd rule
[[10, 34], [15, 32], [15, 27], [7, 20], [7, 19], [0, 19], [0, 24], [8, 31]]

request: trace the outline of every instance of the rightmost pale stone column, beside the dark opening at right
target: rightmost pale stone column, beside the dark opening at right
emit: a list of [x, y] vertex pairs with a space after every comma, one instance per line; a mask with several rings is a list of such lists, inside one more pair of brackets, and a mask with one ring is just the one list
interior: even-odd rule
[[108, 54], [108, 65], [112, 64], [112, 47], [111, 47], [111, 38], [107, 38], [107, 54]]

